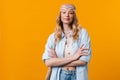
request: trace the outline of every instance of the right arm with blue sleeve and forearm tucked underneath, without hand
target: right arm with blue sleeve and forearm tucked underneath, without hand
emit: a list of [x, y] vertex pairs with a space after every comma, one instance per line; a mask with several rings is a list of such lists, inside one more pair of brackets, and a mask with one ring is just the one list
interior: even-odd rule
[[66, 64], [64, 66], [82, 66], [82, 65], [86, 65], [87, 63], [89, 63], [90, 61], [90, 57], [91, 57], [91, 46], [90, 46], [90, 37], [88, 32], [83, 29], [82, 30], [82, 36], [81, 36], [81, 42], [84, 44], [85, 48], [88, 48], [88, 50], [85, 50], [85, 52], [88, 53], [87, 56], [81, 56], [78, 60], [73, 61], [69, 64]]

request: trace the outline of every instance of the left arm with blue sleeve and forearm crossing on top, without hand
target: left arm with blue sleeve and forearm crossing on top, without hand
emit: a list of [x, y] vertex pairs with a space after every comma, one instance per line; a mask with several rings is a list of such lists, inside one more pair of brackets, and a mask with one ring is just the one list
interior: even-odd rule
[[45, 51], [44, 54], [42, 56], [42, 60], [45, 62], [45, 64], [48, 67], [52, 67], [52, 66], [62, 66], [65, 64], [68, 64], [74, 60], [76, 60], [76, 58], [79, 58], [79, 54], [77, 57], [71, 57], [71, 58], [53, 58], [50, 55], [50, 50], [51, 48], [54, 49], [54, 34], [50, 35], [48, 38], [48, 41], [46, 43], [46, 47], [45, 47]]

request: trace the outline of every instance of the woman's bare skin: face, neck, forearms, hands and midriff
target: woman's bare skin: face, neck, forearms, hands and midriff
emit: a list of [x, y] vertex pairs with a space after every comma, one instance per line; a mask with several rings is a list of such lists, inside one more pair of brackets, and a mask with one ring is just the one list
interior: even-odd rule
[[[70, 9], [61, 11], [61, 21], [63, 22], [64, 33], [70, 30], [70, 23], [74, 17], [74, 12]], [[83, 44], [84, 45], [84, 44]], [[77, 52], [69, 58], [58, 58], [54, 49], [50, 49], [50, 56], [52, 58], [45, 60], [45, 64], [50, 68], [52, 66], [61, 66], [64, 69], [74, 70], [76, 66], [86, 65], [87, 62], [78, 60], [81, 56], [87, 56], [88, 53], [84, 50], [83, 45], [77, 50]]]

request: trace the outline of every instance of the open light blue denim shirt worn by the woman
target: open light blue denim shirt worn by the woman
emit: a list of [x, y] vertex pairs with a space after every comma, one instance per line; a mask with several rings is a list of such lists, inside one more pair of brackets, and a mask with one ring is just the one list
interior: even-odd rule
[[[56, 54], [58, 58], [63, 58], [63, 53], [65, 49], [65, 42], [66, 42], [66, 37], [65, 34], [62, 33], [62, 39], [56, 44], [55, 46], [55, 38], [54, 34], [52, 33], [47, 40], [46, 47], [44, 54], [42, 56], [42, 60], [46, 60], [51, 58], [49, 56], [49, 50], [50, 48], [54, 48], [56, 51]], [[90, 62], [91, 58], [91, 46], [90, 46], [90, 37], [85, 28], [81, 28], [81, 31], [79, 33], [79, 39], [77, 41], [72, 40], [72, 48], [73, 48], [73, 53], [75, 54], [78, 48], [84, 44], [84, 48], [89, 48], [89, 50], [85, 50], [85, 52], [88, 52], [87, 56], [81, 56], [79, 59], [87, 62], [87, 65], [84, 66], [76, 66], [76, 80], [88, 80], [88, 63]], [[59, 80], [59, 75], [60, 75], [61, 67], [52, 67], [52, 73], [50, 76], [50, 80]]]

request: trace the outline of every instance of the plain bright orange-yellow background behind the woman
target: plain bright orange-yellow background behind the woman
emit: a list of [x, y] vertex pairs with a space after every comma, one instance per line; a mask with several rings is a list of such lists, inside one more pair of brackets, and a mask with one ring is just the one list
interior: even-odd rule
[[0, 0], [0, 80], [44, 80], [42, 54], [63, 3], [90, 34], [89, 80], [120, 80], [119, 0]]

